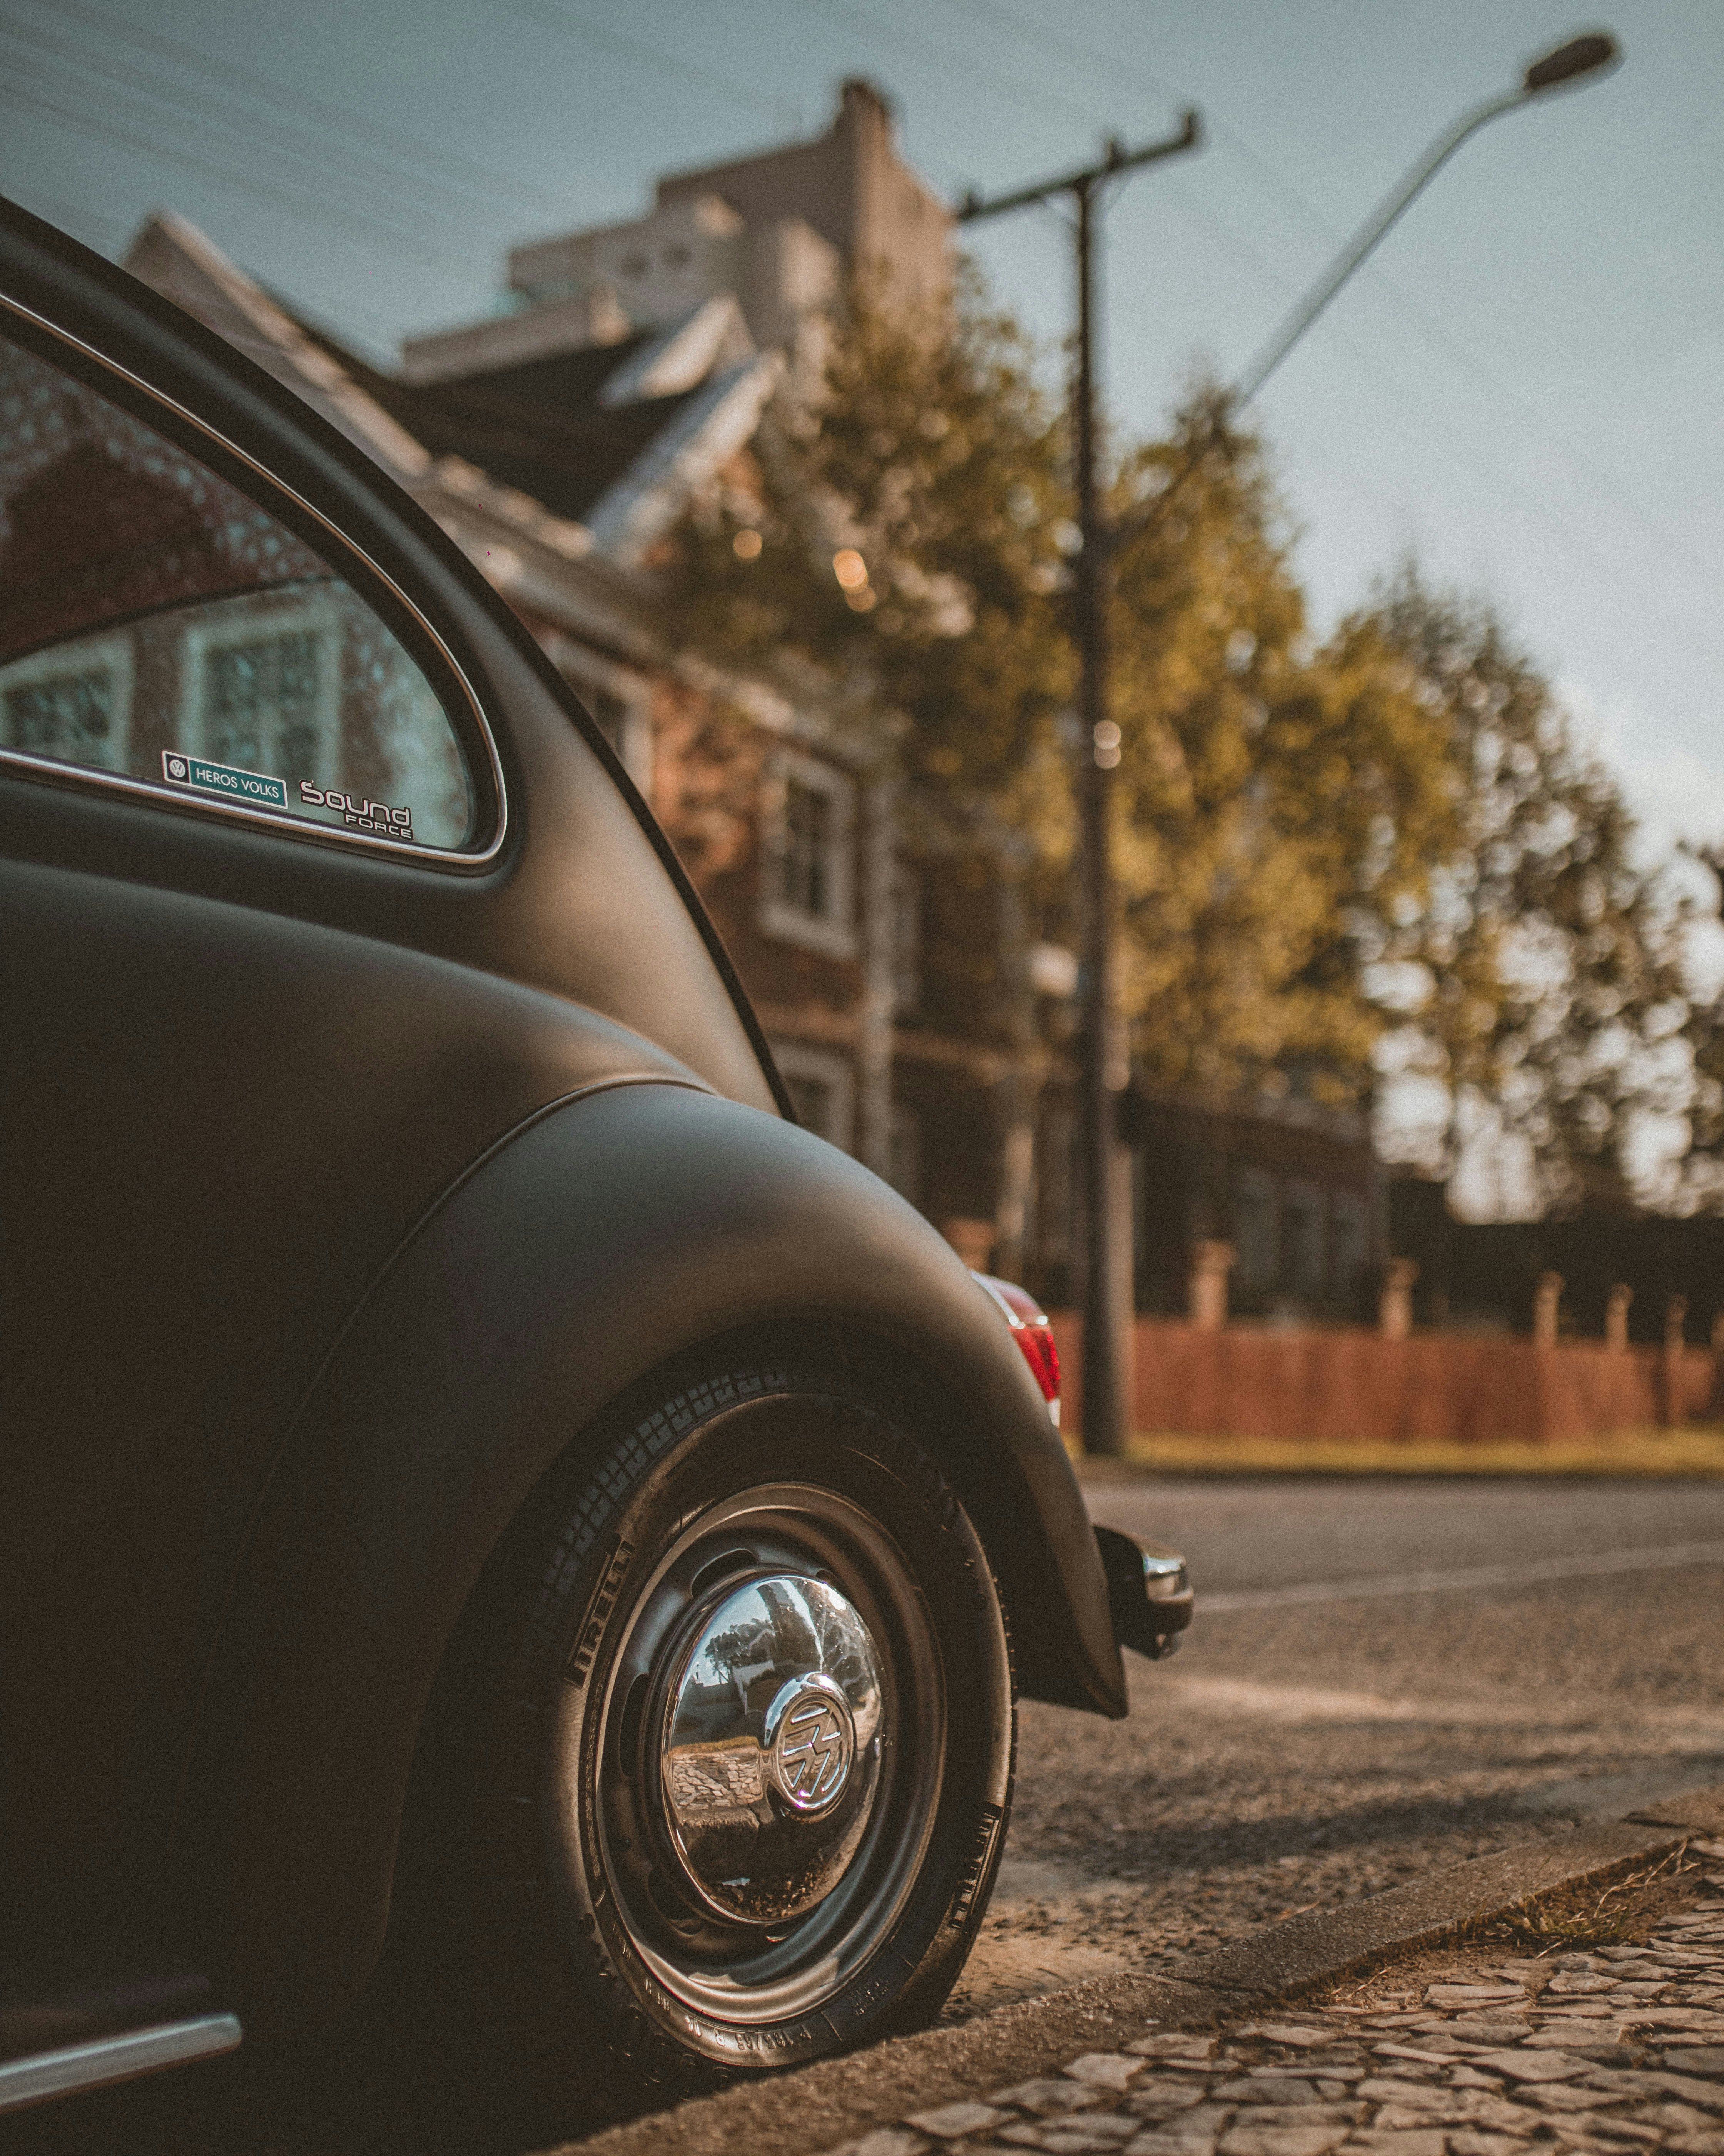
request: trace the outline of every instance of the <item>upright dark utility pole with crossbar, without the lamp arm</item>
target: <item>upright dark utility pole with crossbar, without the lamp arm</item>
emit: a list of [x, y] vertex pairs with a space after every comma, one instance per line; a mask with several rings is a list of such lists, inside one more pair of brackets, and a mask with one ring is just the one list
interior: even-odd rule
[[[1080, 662], [1080, 718], [1084, 742], [1080, 888], [1084, 912], [1082, 998], [1082, 1093], [1080, 1132], [1084, 1156], [1084, 1449], [1121, 1451], [1131, 1416], [1131, 1207], [1118, 1136], [1118, 1095], [1131, 1076], [1129, 1044], [1112, 996], [1112, 772], [1118, 765], [1118, 729], [1108, 716], [1108, 543], [1097, 505], [1097, 395], [1095, 395], [1095, 233], [1106, 209], [1108, 183], [1162, 157], [1198, 149], [1202, 125], [1187, 110], [1177, 136], [1127, 149], [1118, 136], [1099, 164], [1060, 172], [1011, 194], [981, 201], [974, 192], [959, 205], [959, 224], [998, 218], [1009, 209], [1045, 205], [1071, 196], [1078, 267], [1078, 382], [1073, 431], [1078, 438], [1078, 530], [1073, 617]], [[1116, 1184], [1125, 1181], [1121, 1192]], [[1118, 1199], [1125, 1199], [1121, 1207]], [[1123, 1214], [1123, 1220], [1121, 1220]], [[1123, 1231], [1121, 1231], [1123, 1229]]]

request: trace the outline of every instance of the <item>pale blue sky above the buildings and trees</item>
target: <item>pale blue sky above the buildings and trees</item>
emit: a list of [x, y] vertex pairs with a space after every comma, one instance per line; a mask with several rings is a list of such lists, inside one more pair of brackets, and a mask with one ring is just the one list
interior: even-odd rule
[[[1489, 593], [1664, 854], [1724, 841], [1724, 4], [1577, 4], [0, 0], [0, 192], [110, 254], [172, 207], [388, 354], [485, 313], [511, 244], [821, 132], [845, 75], [948, 194], [1194, 103], [1202, 153], [1108, 218], [1106, 390], [1146, 433], [1194, 369], [1243, 371], [1463, 108], [1612, 28], [1618, 73], [1476, 136], [1256, 416], [1317, 627], [1407, 548]], [[1056, 364], [1058, 218], [970, 239]]]

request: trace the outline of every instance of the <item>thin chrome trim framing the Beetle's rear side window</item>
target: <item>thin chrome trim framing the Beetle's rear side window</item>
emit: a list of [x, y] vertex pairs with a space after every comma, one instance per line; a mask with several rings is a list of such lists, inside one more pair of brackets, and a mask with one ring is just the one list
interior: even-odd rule
[[[166, 780], [134, 778], [129, 772], [99, 772], [82, 763], [56, 763], [50, 757], [32, 757], [24, 748], [6, 748], [2, 744], [0, 744], [0, 770], [17, 772], [24, 778], [47, 780], [50, 785], [69, 785], [75, 789], [95, 787], [99, 793], [121, 793], [131, 800], [144, 800], [155, 808], [179, 811], [181, 815], [198, 815], [198, 817], [213, 815], [233, 824], [254, 824], [263, 826], [265, 830], [282, 832], [289, 839], [304, 839], [310, 845], [360, 847], [371, 854], [384, 854], [390, 860], [409, 860], [435, 869], [457, 869], [465, 875], [489, 869], [491, 862], [502, 852], [504, 839], [509, 837], [509, 791], [502, 783], [502, 759], [498, 757], [498, 744], [491, 737], [491, 724], [485, 718], [485, 707], [481, 705], [472, 681], [468, 681], [461, 662], [442, 640], [437, 630], [427, 621], [425, 612], [418, 606], [414, 606], [407, 593], [394, 582], [388, 569], [379, 567], [379, 563], [375, 563], [358, 541], [349, 539], [347, 533], [330, 517], [325, 517], [321, 509], [308, 502], [304, 494], [300, 494], [295, 487], [289, 487], [287, 481], [278, 479], [267, 466], [259, 464], [256, 457], [250, 457], [244, 448], [239, 448], [237, 442], [231, 442], [224, 433], [218, 433], [207, 420], [200, 420], [196, 412], [187, 412], [183, 403], [168, 397], [164, 390], [153, 388], [153, 384], [144, 382], [142, 375], [134, 375], [129, 367], [121, 367], [119, 360], [110, 360], [106, 351], [97, 351], [95, 345], [86, 345], [82, 336], [73, 336], [71, 330], [62, 330], [58, 321], [50, 321], [34, 308], [24, 306], [24, 302], [13, 300], [11, 293], [0, 293], [0, 308], [32, 323], [37, 330], [43, 330], [58, 343], [69, 345], [73, 351], [82, 354], [86, 360], [93, 360], [110, 375], [119, 375], [121, 382], [129, 384], [138, 395], [147, 397], [153, 405], [172, 412], [175, 418], [181, 420], [185, 427], [192, 427], [207, 442], [213, 442], [224, 455], [241, 464], [248, 472], [254, 472], [265, 483], [265, 487], [293, 502], [295, 509], [300, 509], [306, 517], [310, 517], [321, 533], [328, 533], [328, 537], [336, 543], [336, 548], [340, 548], [353, 561], [362, 563], [364, 569], [371, 576], [375, 576], [379, 584], [384, 584], [384, 589], [394, 597], [394, 602], [414, 619], [420, 634], [437, 651], [444, 666], [461, 686], [461, 694], [465, 696], [468, 709], [472, 711], [474, 724], [478, 729], [478, 740], [485, 744], [485, 759], [489, 765], [491, 791], [496, 798], [496, 830], [491, 832], [489, 841], [483, 847], [401, 845], [397, 839], [379, 839], [364, 830], [336, 830], [332, 824], [308, 824], [302, 821], [300, 817], [282, 815], [272, 808], [246, 808], [239, 802], [224, 802], [224, 800], [192, 800], [179, 787], [170, 787]], [[267, 502], [259, 502], [259, 509], [265, 507]], [[332, 567], [336, 565], [332, 563]], [[340, 571], [336, 569], [336, 573]], [[364, 604], [364, 593], [356, 591], [353, 597], [358, 597]], [[388, 627], [388, 623], [384, 623], [384, 627]], [[457, 746], [465, 755], [465, 744], [459, 740], [459, 735], [457, 735]]]

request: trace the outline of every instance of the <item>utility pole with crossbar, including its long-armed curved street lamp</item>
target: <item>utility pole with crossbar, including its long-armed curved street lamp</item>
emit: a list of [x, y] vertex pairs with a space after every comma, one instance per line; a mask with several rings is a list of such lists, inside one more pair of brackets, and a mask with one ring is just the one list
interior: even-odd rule
[[[1427, 149], [1388, 198], [1353, 233], [1310, 291], [1293, 306], [1274, 336], [1263, 345], [1246, 373], [1228, 392], [1237, 410], [1250, 403], [1306, 330], [1347, 285], [1364, 259], [1381, 244], [1418, 194], [1437, 177], [1455, 151], [1487, 121], [1588, 75], [1601, 75], [1621, 65], [1621, 45], [1608, 30], [1588, 30], [1569, 39], [1541, 60], [1532, 60], [1513, 91], [1472, 106]], [[1108, 638], [1106, 638], [1106, 556], [1121, 537], [1153, 528], [1172, 507], [1174, 496], [1196, 470], [1196, 459], [1174, 474], [1174, 483], [1140, 511], [1125, 530], [1106, 530], [1097, 509], [1095, 446], [1095, 207], [1108, 179], [1159, 157], [1194, 149], [1200, 140], [1196, 112], [1185, 114], [1179, 136], [1127, 153], [1114, 138], [1101, 164], [1060, 179], [1039, 181], [989, 203], [970, 192], [959, 205], [959, 222], [991, 218], [1004, 209], [1045, 203], [1069, 194], [1075, 203], [1073, 222], [1078, 254], [1078, 552], [1075, 614], [1082, 664], [1084, 718], [1084, 789], [1080, 877], [1084, 890], [1084, 1080], [1082, 1080], [1082, 1156], [1086, 1197], [1084, 1238], [1084, 1449], [1116, 1453], [1129, 1427], [1131, 1358], [1127, 1328], [1134, 1296], [1129, 1291], [1129, 1233], [1123, 1250], [1114, 1246], [1114, 1153], [1118, 1149], [1118, 1091], [1127, 1082], [1125, 1059], [1118, 1052], [1116, 1013], [1110, 1007], [1110, 934], [1112, 934], [1112, 869], [1110, 869], [1110, 776], [1118, 765], [1118, 727], [1108, 716]]]

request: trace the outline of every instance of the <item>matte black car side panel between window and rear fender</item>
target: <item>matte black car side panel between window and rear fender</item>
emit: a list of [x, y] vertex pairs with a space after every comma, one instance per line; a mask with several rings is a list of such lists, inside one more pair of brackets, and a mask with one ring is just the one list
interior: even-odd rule
[[6, 1216], [30, 1225], [0, 1447], [22, 1947], [162, 1850], [287, 1416], [427, 1205], [547, 1100], [698, 1080], [560, 998], [218, 899], [6, 862], [0, 906]]

